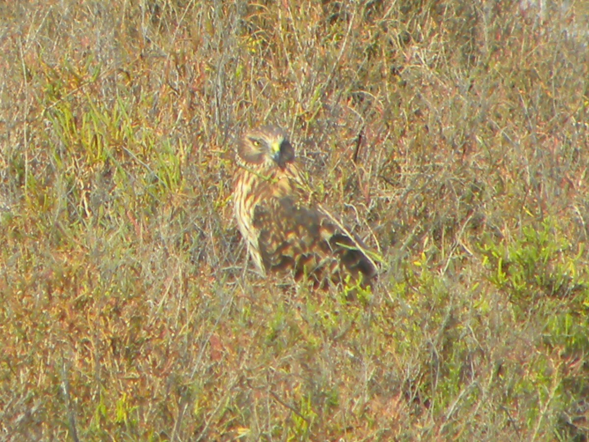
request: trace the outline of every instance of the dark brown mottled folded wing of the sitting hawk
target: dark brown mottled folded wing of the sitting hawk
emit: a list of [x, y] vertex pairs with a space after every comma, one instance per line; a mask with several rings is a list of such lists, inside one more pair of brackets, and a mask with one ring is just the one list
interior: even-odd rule
[[342, 282], [346, 275], [368, 283], [376, 268], [352, 239], [325, 213], [292, 196], [274, 197], [256, 206], [253, 225], [259, 230], [258, 246], [266, 271], [292, 271], [316, 285]]

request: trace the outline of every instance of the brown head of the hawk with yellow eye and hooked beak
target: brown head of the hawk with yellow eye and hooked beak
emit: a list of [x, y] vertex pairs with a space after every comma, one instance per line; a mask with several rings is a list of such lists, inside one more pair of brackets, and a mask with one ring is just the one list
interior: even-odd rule
[[294, 161], [294, 149], [286, 132], [277, 126], [247, 130], [237, 146], [237, 154], [246, 166], [258, 164], [282, 169]]

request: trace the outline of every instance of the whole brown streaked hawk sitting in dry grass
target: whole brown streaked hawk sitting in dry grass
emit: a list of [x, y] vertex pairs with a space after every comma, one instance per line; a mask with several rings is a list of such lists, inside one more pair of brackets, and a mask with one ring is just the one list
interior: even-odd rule
[[292, 273], [313, 286], [362, 286], [376, 275], [363, 243], [316, 202], [286, 133], [276, 126], [248, 130], [237, 146], [234, 188], [237, 226], [262, 275]]

